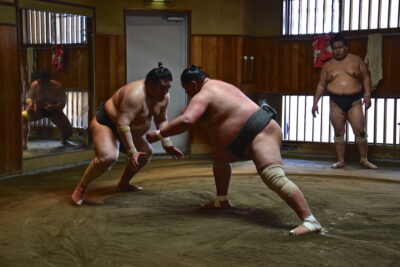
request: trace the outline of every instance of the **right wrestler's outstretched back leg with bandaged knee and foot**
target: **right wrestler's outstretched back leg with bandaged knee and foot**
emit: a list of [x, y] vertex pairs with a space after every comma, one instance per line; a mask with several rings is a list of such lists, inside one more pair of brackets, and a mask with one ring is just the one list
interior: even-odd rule
[[264, 183], [275, 191], [300, 217], [303, 223], [290, 231], [302, 235], [321, 230], [321, 225], [312, 215], [300, 189], [290, 181], [282, 169], [280, 146], [282, 132], [275, 121], [271, 121], [253, 140], [251, 149], [254, 164]]

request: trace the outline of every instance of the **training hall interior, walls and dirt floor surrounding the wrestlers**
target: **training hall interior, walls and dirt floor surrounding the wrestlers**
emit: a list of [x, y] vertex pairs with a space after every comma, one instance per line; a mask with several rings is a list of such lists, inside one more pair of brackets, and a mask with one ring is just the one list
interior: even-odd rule
[[[1, 266], [399, 266], [399, 0], [0, 0]], [[368, 58], [373, 86], [365, 112], [368, 159], [360, 165], [346, 124], [346, 166], [336, 162], [329, 96], [311, 113], [329, 38]], [[196, 64], [277, 111], [288, 178], [322, 225], [291, 236], [300, 221], [260, 179], [252, 161], [232, 163], [228, 209], [215, 198], [212, 147], [193, 125], [161, 144], [119, 192], [128, 160], [71, 194], [94, 157], [90, 122], [120, 87], [162, 62], [172, 75], [168, 119], [190, 98], [181, 72]], [[372, 63], [371, 63], [372, 62]], [[45, 70], [66, 91], [71, 146], [47, 118], [31, 121], [22, 146], [22, 111], [33, 73]], [[241, 105], [240, 103], [237, 103]], [[152, 129], [155, 129], [152, 124]]]

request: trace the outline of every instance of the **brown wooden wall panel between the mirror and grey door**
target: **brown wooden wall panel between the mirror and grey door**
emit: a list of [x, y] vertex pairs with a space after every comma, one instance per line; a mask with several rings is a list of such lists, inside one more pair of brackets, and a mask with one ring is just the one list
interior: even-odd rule
[[95, 107], [126, 84], [124, 35], [95, 36]]

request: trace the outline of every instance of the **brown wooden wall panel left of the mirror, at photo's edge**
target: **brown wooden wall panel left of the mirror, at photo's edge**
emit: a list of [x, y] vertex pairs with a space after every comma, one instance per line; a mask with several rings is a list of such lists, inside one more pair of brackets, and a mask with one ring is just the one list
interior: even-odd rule
[[0, 174], [22, 169], [17, 27], [0, 24]]

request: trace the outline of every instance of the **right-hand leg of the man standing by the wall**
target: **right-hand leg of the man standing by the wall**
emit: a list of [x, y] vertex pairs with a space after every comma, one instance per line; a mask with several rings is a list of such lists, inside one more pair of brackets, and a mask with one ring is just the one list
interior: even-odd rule
[[369, 169], [378, 168], [367, 159], [368, 141], [365, 129], [365, 116], [361, 101], [357, 101], [353, 104], [352, 108], [347, 113], [347, 116], [351, 128], [353, 128], [354, 135], [356, 136], [356, 144], [358, 151], [360, 152], [360, 163]]

